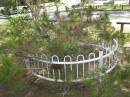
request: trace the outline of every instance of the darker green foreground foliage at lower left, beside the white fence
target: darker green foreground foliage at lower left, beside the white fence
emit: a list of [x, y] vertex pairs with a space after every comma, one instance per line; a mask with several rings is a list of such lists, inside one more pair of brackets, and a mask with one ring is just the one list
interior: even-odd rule
[[0, 85], [7, 87], [9, 94], [15, 95], [25, 88], [22, 70], [12, 63], [11, 55], [1, 55]]

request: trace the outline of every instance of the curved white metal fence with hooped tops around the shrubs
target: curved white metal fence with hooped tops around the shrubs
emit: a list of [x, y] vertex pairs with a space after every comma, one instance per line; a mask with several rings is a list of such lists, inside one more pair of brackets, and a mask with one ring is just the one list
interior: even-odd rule
[[78, 82], [84, 79], [95, 78], [99, 73], [111, 72], [116, 64], [117, 40], [113, 40], [112, 47], [96, 45], [101, 47], [98, 53], [78, 55], [75, 59], [69, 55], [63, 61], [57, 55], [48, 58], [43, 55], [29, 55], [25, 59], [26, 68], [39, 79], [57, 82]]

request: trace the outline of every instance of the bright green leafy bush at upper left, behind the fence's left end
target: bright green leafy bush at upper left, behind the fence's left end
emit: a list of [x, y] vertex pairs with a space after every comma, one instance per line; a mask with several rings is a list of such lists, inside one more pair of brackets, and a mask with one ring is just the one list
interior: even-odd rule
[[39, 31], [35, 22], [27, 21], [25, 17], [16, 17], [10, 19], [8, 26], [2, 38], [2, 52], [16, 55], [20, 53], [20, 56], [23, 56], [26, 52], [34, 53], [43, 46], [46, 35]]

